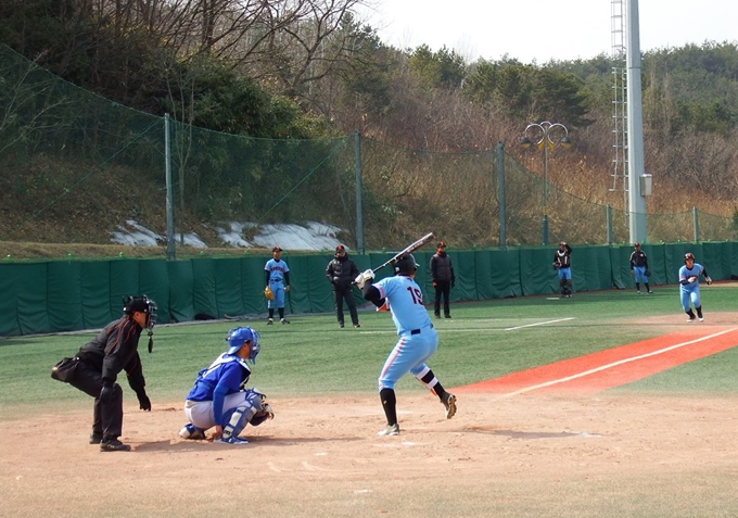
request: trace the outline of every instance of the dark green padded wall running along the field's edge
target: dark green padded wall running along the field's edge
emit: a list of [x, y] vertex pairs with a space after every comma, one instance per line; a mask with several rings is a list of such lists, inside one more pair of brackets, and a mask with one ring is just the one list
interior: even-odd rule
[[[575, 292], [626, 289], [634, 286], [623, 247], [573, 245]], [[738, 243], [644, 244], [651, 285], [674, 285], [686, 252], [705, 266], [715, 280], [738, 276]], [[449, 251], [456, 273], [451, 300], [475, 301], [558, 293], [555, 248]], [[430, 260], [417, 252], [416, 277], [427, 304], [433, 303]], [[377, 267], [391, 253], [352, 255], [359, 271]], [[58, 261], [0, 264], [0, 336], [98, 329], [118, 318], [123, 296], [147, 294], [158, 306], [160, 323], [222, 318], [225, 315], [266, 313], [264, 265], [268, 256], [237, 258]], [[292, 290], [287, 313], [330, 313], [331, 286], [326, 266], [332, 255], [283, 255], [290, 266]], [[378, 278], [392, 275], [386, 267]], [[360, 292], [355, 289], [360, 300]]]

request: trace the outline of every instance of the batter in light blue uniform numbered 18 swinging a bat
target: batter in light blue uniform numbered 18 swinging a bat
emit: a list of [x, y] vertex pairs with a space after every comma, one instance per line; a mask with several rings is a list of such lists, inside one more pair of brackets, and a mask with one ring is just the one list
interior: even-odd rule
[[423, 305], [420, 287], [413, 277], [418, 270], [415, 257], [409, 254], [394, 263], [394, 277], [370, 283], [374, 273], [370, 269], [359, 274], [356, 283], [364, 298], [381, 307], [386, 302], [399, 340], [390, 353], [379, 377], [379, 395], [387, 425], [379, 435], [398, 435], [397, 399], [395, 383], [407, 372], [412, 374], [431, 392], [438, 396], [446, 408], [446, 418], [456, 414], [456, 396], [444, 390], [425, 362], [438, 349], [438, 333]]

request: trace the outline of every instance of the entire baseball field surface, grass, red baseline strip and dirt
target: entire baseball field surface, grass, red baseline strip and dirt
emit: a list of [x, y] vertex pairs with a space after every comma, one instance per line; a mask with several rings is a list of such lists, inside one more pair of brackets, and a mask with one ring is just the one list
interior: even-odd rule
[[[92, 332], [0, 340], [0, 516], [735, 517], [738, 283], [451, 306], [430, 366], [458, 413], [407, 376], [402, 433], [377, 437], [387, 313], [158, 326], [140, 353], [151, 413], [125, 380], [132, 452], [88, 444], [92, 401], [51, 366]], [[429, 301], [425, 301], [429, 302]], [[273, 420], [242, 446], [186, 441], [182, 403], [226, 332], [252, 326], [250, 387]]]

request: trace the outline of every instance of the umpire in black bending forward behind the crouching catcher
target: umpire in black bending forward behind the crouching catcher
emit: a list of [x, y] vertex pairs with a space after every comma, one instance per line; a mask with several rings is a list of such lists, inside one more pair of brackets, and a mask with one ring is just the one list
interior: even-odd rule
[[138, 342], [141, 331], [147, 328], [151, 352], [156, 304], [147, 295], [129, 296], [125, 300], [123, 312], [123, 318], [109, 324], [91, 342], [81, 346], [74, 358], [77, 365], [68, 379], [69, 384], [94, 397], [90, 444], [100, 444], [103, 452], [130, 451], [128, 444], [118, 440], [123, 433], [123, 389], [116, 380], [122, 370], [126, 371], [140, 408], [151, 410]]

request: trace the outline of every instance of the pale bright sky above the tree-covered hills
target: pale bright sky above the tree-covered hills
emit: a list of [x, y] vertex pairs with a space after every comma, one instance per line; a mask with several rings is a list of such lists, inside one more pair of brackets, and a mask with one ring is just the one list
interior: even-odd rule
[[[400, 49], [443, 46], [468, 62], [507, 54], [522, 63], [612, 54], [611, 0], [369, 0], [359, 15], [382, 41]], [[627, 0], [622, 4], [627, 5]], [[738, 42], [736, 0], [639, 0], [642, 52]]]

